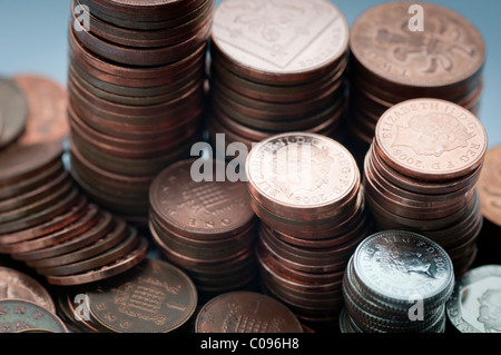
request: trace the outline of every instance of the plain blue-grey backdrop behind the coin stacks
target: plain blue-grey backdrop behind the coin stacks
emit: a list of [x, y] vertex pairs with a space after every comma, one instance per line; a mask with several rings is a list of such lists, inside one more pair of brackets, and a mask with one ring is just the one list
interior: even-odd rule
[[[333, 0], [350, 24], [383, 0]], [[216, 4], [220, 0], [216, 0]], [[472, 21], [488, 47], [480, 119], [501, 145], [501, 1], [434, 0]], [[70, 0], [0, 0], [0, 75], [43, 75], [66, 85]]]

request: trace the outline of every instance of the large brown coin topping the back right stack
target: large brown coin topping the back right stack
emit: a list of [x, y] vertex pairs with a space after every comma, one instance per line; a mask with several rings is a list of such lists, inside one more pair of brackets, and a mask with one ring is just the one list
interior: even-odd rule
[[477, 28], [453, 10], [423, 8], [423, 30], [412, 31], [414, 2], [387, 2], [353, 23], [351, 50], [358, 62], [386, 81], [407, 87], [446, 87], [479, 73], [485, 45]]

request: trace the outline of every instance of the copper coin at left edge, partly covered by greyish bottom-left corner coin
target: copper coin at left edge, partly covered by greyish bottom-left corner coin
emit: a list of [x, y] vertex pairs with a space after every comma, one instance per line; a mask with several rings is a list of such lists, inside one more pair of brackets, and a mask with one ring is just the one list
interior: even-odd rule
[[31, 276], [10, 267], [0, 267], [0, 299], [18, 298], [56, 313], [49, 292]]

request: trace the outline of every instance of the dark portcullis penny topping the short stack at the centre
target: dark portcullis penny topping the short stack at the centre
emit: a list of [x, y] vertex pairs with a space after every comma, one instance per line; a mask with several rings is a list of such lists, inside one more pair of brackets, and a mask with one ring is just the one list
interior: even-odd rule
[[173, 164], [154, 179], [149, 200], [155, 213], [173, 231], [193, 238], [222, 239], [247, 228], [255, 215], [247, 204], [245, 183], [218, 180], [222, 171], [226, 175], [223, 161], [210, 164], [213, 171], [200, 176], [196, 161]]

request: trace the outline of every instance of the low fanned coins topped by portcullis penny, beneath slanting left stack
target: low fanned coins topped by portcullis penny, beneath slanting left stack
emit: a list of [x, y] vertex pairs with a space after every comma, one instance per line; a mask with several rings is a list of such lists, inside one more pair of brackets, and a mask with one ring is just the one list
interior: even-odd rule
[[100, 283], [60, 289], [56, 306], [75, 333], [170, 333], [188, 326], [197, 300], [181, 269], [148, 258]]

